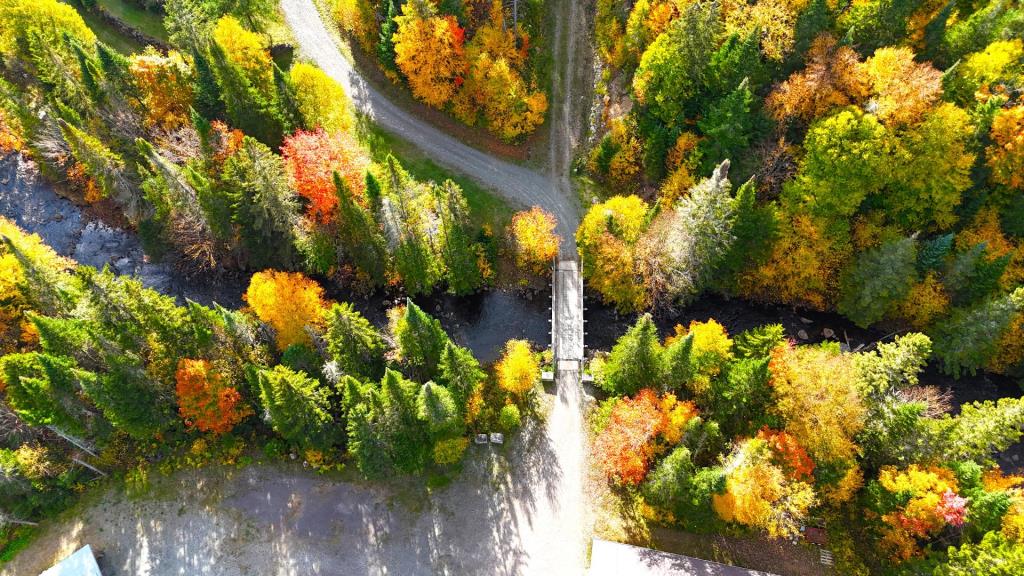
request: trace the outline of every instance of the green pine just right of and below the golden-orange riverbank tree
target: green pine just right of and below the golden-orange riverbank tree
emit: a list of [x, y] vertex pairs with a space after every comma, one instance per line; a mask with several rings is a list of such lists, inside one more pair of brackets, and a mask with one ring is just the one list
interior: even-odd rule
[[327, 311], [324, 339], [329, 358], [338, 369], [362, 380], [384, 374], [384, 338], [351, 303], [336, 303]]

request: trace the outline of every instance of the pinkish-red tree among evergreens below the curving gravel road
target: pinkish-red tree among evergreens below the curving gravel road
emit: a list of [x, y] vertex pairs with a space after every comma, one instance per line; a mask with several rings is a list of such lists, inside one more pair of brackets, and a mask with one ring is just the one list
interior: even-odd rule
[[351, 134], [299, 130], [285, 138], [281, 153], [292, 187], [307, 201], [310, 219], [327, 223], [334, 218], [338, 206], [335, 172], [361, 202], [370, 157]]

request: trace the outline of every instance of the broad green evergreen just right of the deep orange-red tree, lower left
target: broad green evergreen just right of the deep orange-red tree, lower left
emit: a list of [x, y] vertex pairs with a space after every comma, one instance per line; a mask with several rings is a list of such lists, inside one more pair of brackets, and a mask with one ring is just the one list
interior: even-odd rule
[[282, 438], [321, 450], [334, 443], [328, 390], [318, 381], [279, 365], [258, 372], [257, 387], [266, 417]]

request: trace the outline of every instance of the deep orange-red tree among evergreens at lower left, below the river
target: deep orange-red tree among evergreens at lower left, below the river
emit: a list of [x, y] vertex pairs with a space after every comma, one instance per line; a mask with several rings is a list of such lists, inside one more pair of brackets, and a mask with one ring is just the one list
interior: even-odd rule
[[206, 360], [181, 359], [174, 379], [178, 412], [189, 426], [225, 434], [252, 414], [239, 390]]

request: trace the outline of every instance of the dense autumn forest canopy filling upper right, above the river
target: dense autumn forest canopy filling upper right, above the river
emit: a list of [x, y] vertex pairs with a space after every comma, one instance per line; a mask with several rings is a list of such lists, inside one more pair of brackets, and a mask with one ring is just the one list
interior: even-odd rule
[[600, 0], [596, 18], [587, 166], [614, 196], [577, 239], [606, 301], [836, 310], [923, 330], [952, 374], [1021, 374], [1018, 3]]

